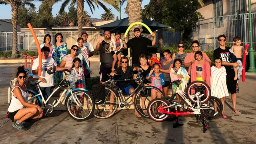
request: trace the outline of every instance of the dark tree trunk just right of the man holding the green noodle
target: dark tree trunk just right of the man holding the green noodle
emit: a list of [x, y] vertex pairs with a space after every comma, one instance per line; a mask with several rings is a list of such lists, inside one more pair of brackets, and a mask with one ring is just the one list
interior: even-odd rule
[[[161, 5], [162, 0], [156, 0], [155, 3], [155, 10], [156, 10], [156, 22], [159, 24], [162, 24], [162, 5]], [[157, 30], [157, 51], [160, 52], [161, 48], [163, 47], [163, 30], [158, 29]]]

